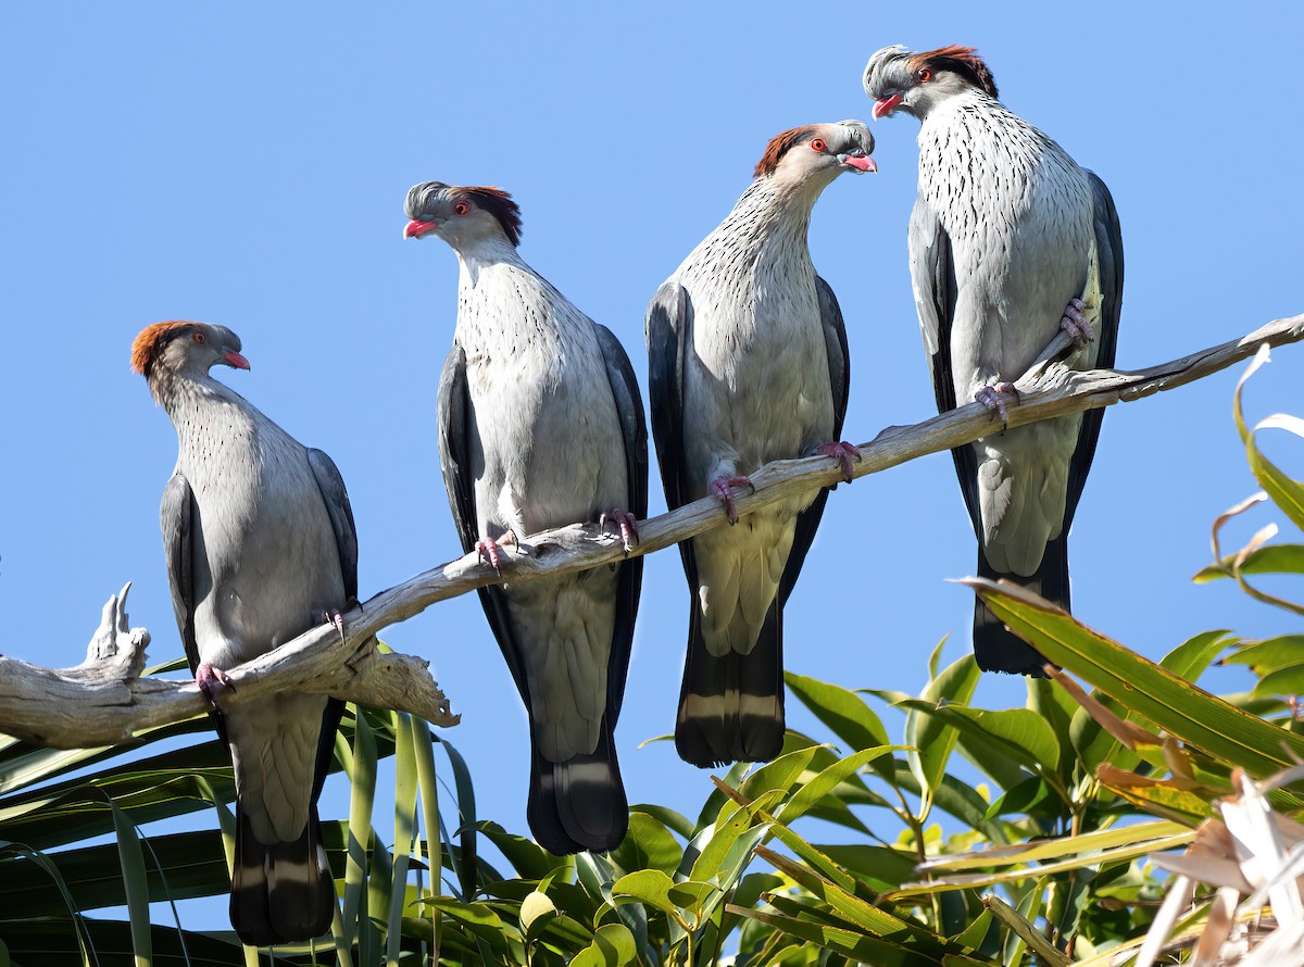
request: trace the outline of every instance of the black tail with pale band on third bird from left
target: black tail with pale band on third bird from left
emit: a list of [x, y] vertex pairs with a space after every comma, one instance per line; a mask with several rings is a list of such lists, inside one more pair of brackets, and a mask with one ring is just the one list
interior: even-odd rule
[[716, 658], [702, 637], [696, 602], [679, 687], [674, 747], [702, 769], [767, 762], [784, 748], [784, 610], [769, 606], [751, 654]]

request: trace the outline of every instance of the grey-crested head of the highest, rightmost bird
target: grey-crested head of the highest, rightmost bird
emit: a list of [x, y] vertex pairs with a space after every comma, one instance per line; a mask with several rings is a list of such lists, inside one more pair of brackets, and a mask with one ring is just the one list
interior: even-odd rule
[[923, 53], [884, 47], [865, 66], [865, 93], [874, 98], [875, 120], [897, 109], [923, 120], [934, 107], [970, 89], [996, 98], [996, 81], [974, 47], [951, 44]]

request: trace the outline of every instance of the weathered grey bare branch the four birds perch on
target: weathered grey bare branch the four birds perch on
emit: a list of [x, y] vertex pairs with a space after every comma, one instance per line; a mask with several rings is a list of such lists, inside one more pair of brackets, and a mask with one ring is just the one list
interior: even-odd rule
[[[1282, 345], [1304, 339], [1304, 315], [1278, 319], [1243, 339], [1183, 356], [1137, 371], [1067, 369], [1071, 351], [1061, 335], [1016, 383], [1020, 403], [1009, 409], [1009, 426], [1131, 401], [1184, 386], [1252, 356], [1261, 344]], [[926, 454], [979, 439], [996, 429], [982, 405], [970, 403], [914, 426], [891, 426], [861, 447], [854, 476], [885, 470]], [[842, 480], [829, 457], [777, 460], [751, 474], [755, 493], [739, 493], [739, 515], [750, 513], [802, 491]], [[639, 524], [639, 543], [630, 554], [651, 554], [713, 527], [725, 517], [707, 498]], [[496, 572], [468, 554], [381, 592], [346, 615], [340, 637], [330, 626], [300, 635], [258, 659], [228, 670], [236, 693], [223, 701], [240, 702], [280, 689], [329, 692], [364, 705], [419, 714], [436, 725], [452, 725], [447, 701], [430, 679], [426, 662], [409, 656], [381, 654], [374, 636], [390, 624], [412, 618], [438, 601], [489, 584], [535, 581], [626, 556], [618, 538], [593, 525], [571, 525], [533, 534]], [[51, 671], [0, 657], [0, 731], [51, 745], [107, 745], [168, 722], [205, 712], [193, 682], [138, 678], [149, 633], [128, 629], [123, 610], [126, 589], [104, 609], [104, 622], [91, 642], [87, 662]]]

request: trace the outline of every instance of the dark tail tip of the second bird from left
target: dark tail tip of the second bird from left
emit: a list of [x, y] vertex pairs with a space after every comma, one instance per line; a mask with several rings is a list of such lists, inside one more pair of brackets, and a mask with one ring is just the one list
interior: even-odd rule
[[563, 856], [621, 844], [630, 825], [630, 804], [606, 719], [591, 755], [549, 762], [535, 745], [531, 761], [526, 818], [540, 846]]

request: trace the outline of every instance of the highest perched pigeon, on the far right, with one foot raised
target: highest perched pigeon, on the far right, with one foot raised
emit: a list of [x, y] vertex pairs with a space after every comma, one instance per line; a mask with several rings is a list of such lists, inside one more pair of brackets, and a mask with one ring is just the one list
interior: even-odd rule
[[[1123, 237], [1104, 182], [996, 99], [973, 47], [878, 51], [874, 117], [921, 121], [910, 275], [939, 412], [977, 399], [1005, 418], [1011, 381], [1059, 328], [1074, 368], [1112, 366]], [[978, 537], [978, 573], [1069, 606], [1068, 532], [1104, 411], [992, 434], [952, 451]], [[1042, 675], [1043, 659], [978, 602], [987, 671]]]

